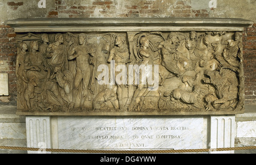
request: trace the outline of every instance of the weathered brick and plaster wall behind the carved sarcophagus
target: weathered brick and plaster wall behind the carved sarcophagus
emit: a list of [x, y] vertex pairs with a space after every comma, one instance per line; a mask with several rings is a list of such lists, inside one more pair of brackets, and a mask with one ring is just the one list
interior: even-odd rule
[[[0, 72], [9, 73], [10, 94], [9, 96], [0, 96], [0, 104], [16, 104], [15, 33], [12, 28], [4, 24], [4, 21], [7, 19], [96, 17], [204, 18], [216, 16], [256, 20], [255, 13], [253, 10], [250, 10], [254, 6], [253, 3], [240, 0], [223, 1], [217, 5], [217, 8], [209, 8], [209, 1], [205, 0], [46, 0], [46, 9], [39, 9], [38, 2], [32, 0], [0, 2], [0, 24], [3, 24], [0, 26]], [[247, 104], [256, 104], [255, 33], [255, 24], [252, 27], [246, 28], [243, 33], [245, 98]]]

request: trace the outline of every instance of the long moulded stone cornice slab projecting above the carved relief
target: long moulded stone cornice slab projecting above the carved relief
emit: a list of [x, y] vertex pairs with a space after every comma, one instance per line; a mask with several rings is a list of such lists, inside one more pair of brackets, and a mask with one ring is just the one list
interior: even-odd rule
[[253, 24], [226, 18], [29, 18], [7, 20], [15, 32], [243, 31]]

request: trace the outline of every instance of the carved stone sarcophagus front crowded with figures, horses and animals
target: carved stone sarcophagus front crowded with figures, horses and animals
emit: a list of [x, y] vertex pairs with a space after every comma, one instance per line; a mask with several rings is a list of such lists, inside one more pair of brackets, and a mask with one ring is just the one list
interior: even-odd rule
[[189, 115], [243, 108], [241, 32], [22, 33], [17, 40], [22, 112]]

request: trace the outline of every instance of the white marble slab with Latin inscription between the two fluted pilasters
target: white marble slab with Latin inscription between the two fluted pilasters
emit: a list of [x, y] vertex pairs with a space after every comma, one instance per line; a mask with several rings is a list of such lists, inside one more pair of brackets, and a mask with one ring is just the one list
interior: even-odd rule
[[195, 116], [58, 117], [57, 130], [59, 149], [205, 149], [208, 146], [207, 119]]

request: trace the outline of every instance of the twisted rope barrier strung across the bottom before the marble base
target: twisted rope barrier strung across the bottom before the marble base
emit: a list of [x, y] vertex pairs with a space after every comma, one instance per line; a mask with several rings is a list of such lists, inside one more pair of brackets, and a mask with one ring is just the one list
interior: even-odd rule
[[187, 149], [187, 150], [73, 150], [73, 149], [43, 149], [32, 147], [13, 147], [0, 146], [0, 149], [5, 150], [27, 150], [27, 151], [50, 151], [57, 153], [104, 153], [104, 154], [164, 154], [164, 153], [199, 153], [210, 151], [230, 151], [230, 150], [254, 150], [256, 146], [247, 147], [227, 147], [217, 149]]

